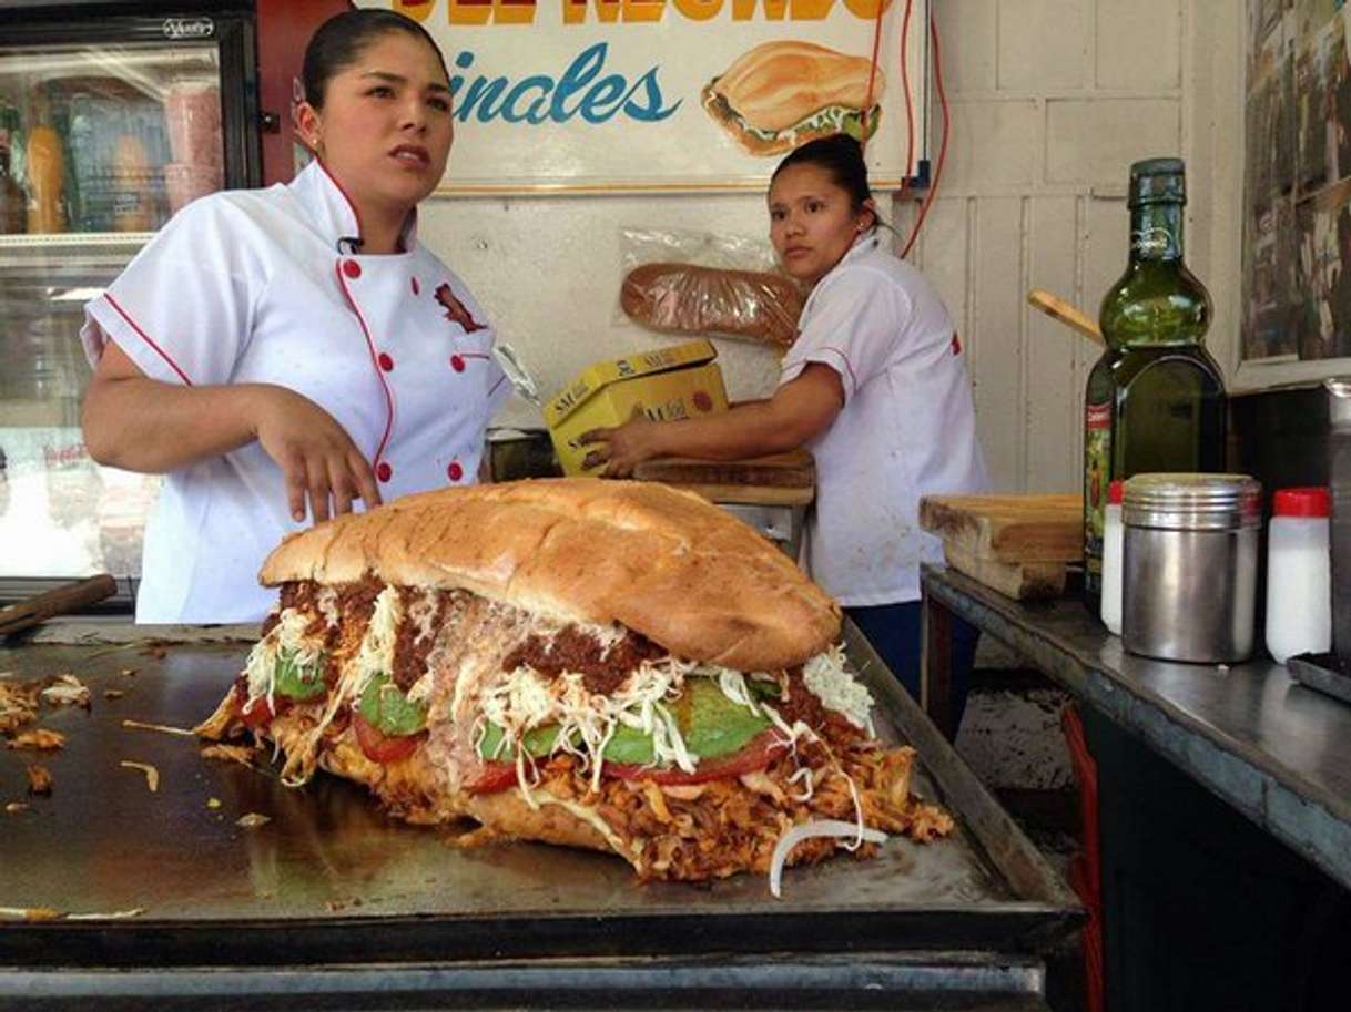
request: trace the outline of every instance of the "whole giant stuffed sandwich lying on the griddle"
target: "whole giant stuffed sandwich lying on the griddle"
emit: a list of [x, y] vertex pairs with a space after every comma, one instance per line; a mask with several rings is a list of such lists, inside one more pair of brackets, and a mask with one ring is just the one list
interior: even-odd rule
[[951, 819], [873, 733], [835, 603], [665, 486], [408, 497], [289, 537], [245, 672], [197, 733], [270, 743], [394, 816], [613, 851], [647, 878], [770, 873]]

